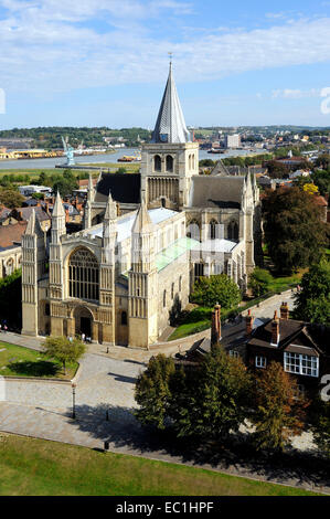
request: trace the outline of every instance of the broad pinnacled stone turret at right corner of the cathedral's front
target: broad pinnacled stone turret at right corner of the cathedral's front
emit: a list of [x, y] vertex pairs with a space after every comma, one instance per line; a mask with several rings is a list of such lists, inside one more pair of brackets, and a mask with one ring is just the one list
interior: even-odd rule
[[156, 230], [142, 201], [131, 230], [128, 274], [129, 346], [146, 348], [158, 338]]

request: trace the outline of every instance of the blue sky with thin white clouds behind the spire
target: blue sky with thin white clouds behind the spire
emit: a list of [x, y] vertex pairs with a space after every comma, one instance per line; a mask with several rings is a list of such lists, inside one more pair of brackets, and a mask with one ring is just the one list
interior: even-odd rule
[[330, 0], [0, 0], [0, 129], [330, 126]]

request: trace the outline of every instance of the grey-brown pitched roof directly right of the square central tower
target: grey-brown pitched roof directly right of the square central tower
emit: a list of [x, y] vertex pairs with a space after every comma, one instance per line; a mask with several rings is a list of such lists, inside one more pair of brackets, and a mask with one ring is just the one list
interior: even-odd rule
[[244, 177], [194, 176], [189, 208], [241, 209]]

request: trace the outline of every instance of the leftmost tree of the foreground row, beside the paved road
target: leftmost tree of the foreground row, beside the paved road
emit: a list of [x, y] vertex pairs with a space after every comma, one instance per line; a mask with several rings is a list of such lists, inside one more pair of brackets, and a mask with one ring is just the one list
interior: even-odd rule
[[141, 424], [155, 425], [159, 430], [166, 427], [171, 400], [169, 382], [174, 371], [173, 359], [160, 353], [151, 357], [147, 370], [139, 375], [135, 399], [140, 405], [136, 416]]

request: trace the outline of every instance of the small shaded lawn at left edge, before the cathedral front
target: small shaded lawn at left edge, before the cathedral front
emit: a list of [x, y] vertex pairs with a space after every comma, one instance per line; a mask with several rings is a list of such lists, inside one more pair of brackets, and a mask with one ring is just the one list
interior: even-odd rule
[[77, 367], [76, 362], [67, 364], [64, 374], [62, 364], [40, 351], [0, 341], [0, 375], [71, 380]]

